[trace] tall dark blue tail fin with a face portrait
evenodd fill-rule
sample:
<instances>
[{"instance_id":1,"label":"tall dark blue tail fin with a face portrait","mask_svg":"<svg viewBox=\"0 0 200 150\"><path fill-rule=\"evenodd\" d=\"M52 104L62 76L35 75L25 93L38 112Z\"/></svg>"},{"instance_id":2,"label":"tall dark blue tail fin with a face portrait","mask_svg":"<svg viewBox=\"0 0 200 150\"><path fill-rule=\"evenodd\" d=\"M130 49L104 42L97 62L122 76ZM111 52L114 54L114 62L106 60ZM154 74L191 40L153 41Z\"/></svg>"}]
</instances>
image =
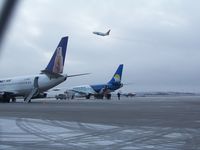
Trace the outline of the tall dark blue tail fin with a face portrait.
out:
<instances>
[{"instance_id":1,"label":"tall dark blue tail fin with a face portrait","mask_svg":"<svg viewBox=\"0 0 200 150\"><path fill-rule=\"evenodd\" d=\"M62 37L60 43L58 44L51 60L45 70L42 70L42 73L48 74L61 74L63 73L65 55L67 51L68 36Z\"/></svg>"}]
</instances>

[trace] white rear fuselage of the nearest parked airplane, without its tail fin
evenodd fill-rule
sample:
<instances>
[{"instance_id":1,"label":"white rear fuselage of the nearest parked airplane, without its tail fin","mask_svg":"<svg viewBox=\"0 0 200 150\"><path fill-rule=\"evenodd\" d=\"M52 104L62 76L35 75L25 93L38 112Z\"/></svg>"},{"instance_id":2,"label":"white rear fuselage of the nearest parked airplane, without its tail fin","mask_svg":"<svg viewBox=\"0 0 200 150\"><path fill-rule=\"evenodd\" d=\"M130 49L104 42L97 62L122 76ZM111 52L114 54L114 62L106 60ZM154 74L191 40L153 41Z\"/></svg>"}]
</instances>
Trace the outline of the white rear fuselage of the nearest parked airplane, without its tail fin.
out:
<instances>
[{"instance_id":1,"label":"white rear fuselage of the nearest parked airplane, without its tail fin","mask_svg":"<svg viewBox=\"0 0 200 150\"><path fill-rule=\"evenodd\" d=\"M50 78L46 74L0 79L0 91L10 92L16 96L27 96L33 90L37 77L39 92L47 91L67 79L67 75Z\"/></svg>"}]
</instances>

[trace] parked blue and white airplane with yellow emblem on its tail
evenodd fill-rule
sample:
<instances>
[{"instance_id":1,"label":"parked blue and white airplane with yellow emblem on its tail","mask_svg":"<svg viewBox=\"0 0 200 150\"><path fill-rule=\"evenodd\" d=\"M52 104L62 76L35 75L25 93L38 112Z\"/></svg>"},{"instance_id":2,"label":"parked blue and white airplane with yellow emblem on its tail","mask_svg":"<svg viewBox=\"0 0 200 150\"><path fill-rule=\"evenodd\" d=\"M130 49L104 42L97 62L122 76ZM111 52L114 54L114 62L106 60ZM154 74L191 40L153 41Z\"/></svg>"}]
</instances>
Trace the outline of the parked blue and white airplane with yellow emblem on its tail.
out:
<instances>
[{"instance_id":1,"label":"parked blue and white airplane with yellow emblem on its tail","mask_svg":"<svg viewBox=\"0 0 200 150\"><path fill-rule=\"evenodd\" d=\"M121 83L122 71L123 71L123 64L120 64L115 74L108 83L75 86L72 89L66 91L66 93L67 92L69 93L74 92L74 94L78 93L79 96L83 96L86 99L90 99L91 96L94 96L95 98L98 99L103 99L103 97L105 96L107 99L110 99L111 92L114 92L115 90L123 87L123 84Z\"/></svg>"}]
</instances>

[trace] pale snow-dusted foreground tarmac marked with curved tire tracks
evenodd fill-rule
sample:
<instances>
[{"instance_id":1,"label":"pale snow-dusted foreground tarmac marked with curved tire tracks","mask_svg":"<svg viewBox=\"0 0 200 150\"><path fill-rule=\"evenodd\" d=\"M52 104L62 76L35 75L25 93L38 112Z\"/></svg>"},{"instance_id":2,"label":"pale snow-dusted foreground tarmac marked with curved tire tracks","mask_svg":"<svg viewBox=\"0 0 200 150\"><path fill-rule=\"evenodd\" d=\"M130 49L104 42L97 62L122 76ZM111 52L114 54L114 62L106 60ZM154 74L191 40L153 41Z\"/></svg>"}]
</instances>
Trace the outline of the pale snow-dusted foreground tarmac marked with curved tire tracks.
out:
<instances>
[{"instance_id":1,"label":"pale snow-dusted foreground tarmac marked with curved tire tracks","mask_svg":"<svg viewBox=\"0 0 200 150\"><path fill-rule=\"evenodd\" d=\"M200 131L120 127L28 118L0 119L0 149L199 149L186 142ZM191 141L193 142L193 141ZM192 144L192 143L191 143ZM192 145L190 145L192 146Z\"/></svg>"}]
</instances>

